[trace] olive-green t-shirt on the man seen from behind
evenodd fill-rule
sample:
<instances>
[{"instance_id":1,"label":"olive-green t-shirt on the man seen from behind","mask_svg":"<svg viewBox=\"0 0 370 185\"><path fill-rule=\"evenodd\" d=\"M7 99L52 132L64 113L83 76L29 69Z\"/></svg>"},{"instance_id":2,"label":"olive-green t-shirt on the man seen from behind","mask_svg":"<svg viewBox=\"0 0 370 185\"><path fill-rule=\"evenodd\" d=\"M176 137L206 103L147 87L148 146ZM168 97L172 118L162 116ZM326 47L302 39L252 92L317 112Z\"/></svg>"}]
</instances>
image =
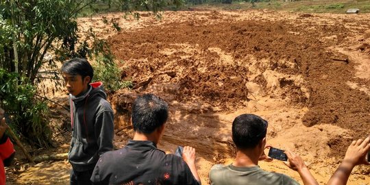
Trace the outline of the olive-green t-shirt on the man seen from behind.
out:
<instances>
[{"instance_id":1,"label":"olive-green t-shirt on the man seen from behind","mask_svg":"<svg viewBox=\"0 0 370 185\"><path fill-rule=\"evenodd\" d=\"M260 167L234 167L232 164L224 166L216 164L210 169L210 181L213 185L225 184L263 184L289 185L299 184L284 174L263 171Z\"/></svg>"}]
</instances>

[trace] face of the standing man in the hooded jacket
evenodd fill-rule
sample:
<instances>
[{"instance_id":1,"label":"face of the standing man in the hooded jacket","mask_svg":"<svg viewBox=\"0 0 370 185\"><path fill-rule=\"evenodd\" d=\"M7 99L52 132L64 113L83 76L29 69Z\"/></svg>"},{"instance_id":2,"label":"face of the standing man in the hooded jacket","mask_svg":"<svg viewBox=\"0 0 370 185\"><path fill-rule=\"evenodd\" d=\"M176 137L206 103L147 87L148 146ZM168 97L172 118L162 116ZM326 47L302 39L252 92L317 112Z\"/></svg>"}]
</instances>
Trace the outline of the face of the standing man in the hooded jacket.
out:
<instances>
[{"instance_id":1,"label":"face of the standing man in the hooded jacket","mask_svg":"<svg viewBox=\"0 0 370 185\"><path fill-rule=\"evenodd\" d=\"M88 76L86 76L85 79L82 79L81 75L70 75L69 73L64 72L62 76L66 89L73 96L83 93L88 88L88 82L90 81L90 77Z\"/></svg>"}]
</instances>

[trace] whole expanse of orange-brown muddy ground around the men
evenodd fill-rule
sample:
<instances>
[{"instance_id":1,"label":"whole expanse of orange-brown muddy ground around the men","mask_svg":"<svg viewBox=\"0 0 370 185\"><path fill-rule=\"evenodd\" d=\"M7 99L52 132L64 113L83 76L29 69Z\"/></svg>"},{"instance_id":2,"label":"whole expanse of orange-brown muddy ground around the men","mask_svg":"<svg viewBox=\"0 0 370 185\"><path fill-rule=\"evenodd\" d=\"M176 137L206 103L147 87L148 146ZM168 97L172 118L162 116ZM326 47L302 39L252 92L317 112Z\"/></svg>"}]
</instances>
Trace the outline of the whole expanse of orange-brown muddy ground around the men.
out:
<instances>
[{"instance_id":1,"label":"whole expanse of orange-brown muddy ground around the men","mask_svg":"<svg viewBox=\"0 0 370 185\"><path fill-rule=\"evenodd\" d=\"M197 151L203 184L213 164L232 162L231 125L243 113L269 121L267 144L298 153L320 184L341 162L347 145L370 129L370 15L303 14L269 10L191 10L80 18L108 38L133 90L109 95L116 110L114 145L133 136L130 105L143 93L169 103L167 130L159 148ZM116 33L102 17L115 18ZM66 96L57 99L66 103ZM54 107L56 108L56 107ZM57 109L57 108L56 108ZM55 114L69 113L56 110ZM68 124L68 123L67 123ZM61 131L64 133L65 131ZM58 152L68 151L68 134ZM63 144L63 145L62 145ZM260 162L268 171L301 182L282 162ZM42 162L10 171L9 184L68 184L68 162ZM356 167L348 184L370 184L370 167Z\"/></svg>"}]
</instances>

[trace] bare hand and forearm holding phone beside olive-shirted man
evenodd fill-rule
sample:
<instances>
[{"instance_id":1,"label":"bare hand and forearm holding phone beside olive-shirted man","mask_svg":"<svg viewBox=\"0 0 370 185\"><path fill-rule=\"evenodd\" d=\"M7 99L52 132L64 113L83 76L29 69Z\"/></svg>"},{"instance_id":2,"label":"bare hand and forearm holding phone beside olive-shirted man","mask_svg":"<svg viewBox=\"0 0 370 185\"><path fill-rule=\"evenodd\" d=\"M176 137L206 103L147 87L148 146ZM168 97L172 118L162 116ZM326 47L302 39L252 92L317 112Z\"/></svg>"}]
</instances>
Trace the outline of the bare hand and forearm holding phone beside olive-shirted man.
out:
<instances>
[{"instance_id":1,"label":"bare hand and forearm holding phone beside olive-shirted man","mask_svg":"<svg viewBox=\"0 0 370 185\"><path fill-rule=\"evenodd\" d=\"M317 181L314 179L306 164L304 164L304 160L298 156L297 154L293 153L292 151L285 151L286 156L288 156L288 162L286 162L286 166L289 168L297 171L301 176L302 181L305 185L318 185Z\"/></svg>"}]
</instances>

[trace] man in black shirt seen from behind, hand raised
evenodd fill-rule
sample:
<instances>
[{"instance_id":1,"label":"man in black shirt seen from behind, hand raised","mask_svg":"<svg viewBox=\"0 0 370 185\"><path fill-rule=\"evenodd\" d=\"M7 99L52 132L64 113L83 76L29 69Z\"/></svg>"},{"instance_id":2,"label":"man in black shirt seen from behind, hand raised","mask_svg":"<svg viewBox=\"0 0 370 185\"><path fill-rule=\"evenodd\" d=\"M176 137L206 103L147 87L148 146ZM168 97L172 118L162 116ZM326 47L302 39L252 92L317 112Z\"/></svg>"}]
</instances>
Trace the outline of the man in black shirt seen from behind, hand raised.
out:
<instances>
[{"instance_id":1,"label":"man in black shirt seen from behind, hand raised","mask_svg":"<svg viewBox=\"0 0 370 185\"><path fill-rule=\"evenodd\" d=\"M200 184L195 149L184 147L182 158L164 153L157 144L164 133L168 106L147 94L132 105L134 139L123 149L104 153L93 171L94 184Z\"/></svg>"}]
</instances>

